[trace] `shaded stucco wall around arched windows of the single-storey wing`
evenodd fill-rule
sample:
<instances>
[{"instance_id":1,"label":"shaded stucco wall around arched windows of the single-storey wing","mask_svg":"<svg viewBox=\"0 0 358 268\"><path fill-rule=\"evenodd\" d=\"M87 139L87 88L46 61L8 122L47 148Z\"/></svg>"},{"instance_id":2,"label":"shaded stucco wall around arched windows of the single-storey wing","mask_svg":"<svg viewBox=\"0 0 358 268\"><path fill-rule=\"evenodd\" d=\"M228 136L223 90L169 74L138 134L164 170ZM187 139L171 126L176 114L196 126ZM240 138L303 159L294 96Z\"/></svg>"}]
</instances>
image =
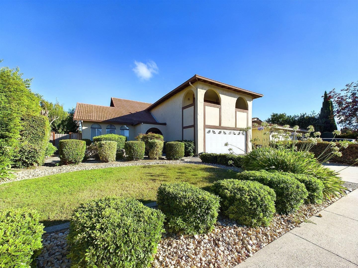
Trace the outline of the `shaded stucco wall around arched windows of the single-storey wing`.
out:
<instances>
[{"instance_id":1,"label":"shaded stucco wall around arched windows of the single-storey wing","mask_svg":"<svg viewBox=\"0 0 358 268\"><path fill-rule=\"evenodd\" d=\"M106 128L108 123L103 122L92 122L92 121L83 121L82 122L82 139L91 139L91 125L99 124L102 127L102 135L106 134ZM110 123L116 127L116 134L120 134L120 128L123 124ZM140 133L146 133L150 128L158 128L161 133L165 136L165 125L154 125L154 124L137 124L137 125L126 125L129 128L129 140L135 140L135 137ZM181 135L181 133L180 133Z\"/></svg>"}]
</instances>

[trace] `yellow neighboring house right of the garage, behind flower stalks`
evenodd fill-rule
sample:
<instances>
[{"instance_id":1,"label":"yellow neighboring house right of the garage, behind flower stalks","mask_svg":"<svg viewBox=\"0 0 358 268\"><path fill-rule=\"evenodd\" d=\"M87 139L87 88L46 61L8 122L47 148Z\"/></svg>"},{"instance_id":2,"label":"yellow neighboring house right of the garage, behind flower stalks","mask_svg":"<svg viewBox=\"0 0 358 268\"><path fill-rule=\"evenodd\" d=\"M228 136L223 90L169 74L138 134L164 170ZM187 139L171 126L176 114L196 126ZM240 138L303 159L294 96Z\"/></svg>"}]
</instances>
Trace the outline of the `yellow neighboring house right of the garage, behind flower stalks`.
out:
<instances>
[{"instance_id":1,"label":"yellow neighboring house right of the garage, behind flower stalks","mask_svg":"<svg viewBox=\"0 0 358 268\"><path fill-rule=\"evenodd\" d=\"M287 132L287 131L289 131L289 132L294 132L294 130L293 130L293 128L284 128L284 126L283 125L278 125L278 127L277 128L275 128L275 132L274 132L274 130L273 129L268 129L268 128L264 128L264 129L262 129L262 127L261 127L261 124L262 124L262 122L263 121L261 121L260 119L258 119L257 117L254 117L254 118L252 118L252 124L258 124L259 126L257 127L257 128L252 128L252 139L255 139L255 138L258 138L258 139L260 139L260 140L258 140L258 141L255 141L254 142L254 145L263 145L263 133L265 132L265 131L270 131L270 135L269 135L269 141L270 140L273 140L273 138L272 138L272 134L277 134L277 131L278 130L283 130L285 133ZM273 124L271 124L271 123L268 123L270 126L272 126ZM305 134L306 133L308 133L308 129L305 129L305 128L299 128L297 131L296 131L297 133L302 133L302 138L304 138L305 137ZM290 135L290 139L291 140L293 140L294 139L294 135ZM295 139L297 139L297 137L295 137ZM265 140L267 140L267 138L265 138ZM277 139L276 139L277 140ZM266 145L266 144L265 144Z\"/></svg>"}]
</instances>

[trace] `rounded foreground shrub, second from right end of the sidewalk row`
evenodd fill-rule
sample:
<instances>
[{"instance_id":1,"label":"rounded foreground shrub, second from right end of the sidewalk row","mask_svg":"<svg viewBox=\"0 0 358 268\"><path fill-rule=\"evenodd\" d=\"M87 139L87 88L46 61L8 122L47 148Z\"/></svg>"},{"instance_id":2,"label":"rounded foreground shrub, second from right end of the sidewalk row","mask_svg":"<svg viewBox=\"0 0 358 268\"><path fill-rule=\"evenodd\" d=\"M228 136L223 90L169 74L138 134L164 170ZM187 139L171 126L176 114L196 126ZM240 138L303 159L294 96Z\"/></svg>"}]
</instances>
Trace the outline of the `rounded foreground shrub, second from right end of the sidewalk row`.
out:
<instances>
[{"instance_id":1,"label":"rounded foreground shrub, second from right end of the sidewalk row","mask_svg":"<svg viewBox=\"0 0 358 268\"><path fill-rule=\"evenodd\" d=\"M240 180L255 180L273 189L276 193L276 211L279 213L295 212L308 196L303 183L280 172L271 173L266 170L244 171L238 173L237 178Z\"/></svg>"}]
</instances>

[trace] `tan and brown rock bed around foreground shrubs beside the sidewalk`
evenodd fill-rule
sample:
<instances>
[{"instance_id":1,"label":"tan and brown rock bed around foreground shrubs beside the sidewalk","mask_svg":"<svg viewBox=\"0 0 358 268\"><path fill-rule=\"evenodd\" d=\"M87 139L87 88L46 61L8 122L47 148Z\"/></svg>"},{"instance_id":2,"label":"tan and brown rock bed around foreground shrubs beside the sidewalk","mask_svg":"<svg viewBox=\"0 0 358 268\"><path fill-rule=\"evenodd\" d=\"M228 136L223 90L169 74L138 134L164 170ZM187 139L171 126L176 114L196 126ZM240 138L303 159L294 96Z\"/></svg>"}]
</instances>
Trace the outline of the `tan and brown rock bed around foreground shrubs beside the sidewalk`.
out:
<instances>
[{"instance_id":1,"label":"tan and brown rock bed around foreground shrubs beside the sidewalk","mask_svg":"<svg viewBox=\"0 0 358 268\"><path fill-rule=\"evenodd\" d=\"M321 205L303 205L295 214L276 214L269 227L249 228L219 218L214 230L208 234L188 236L166 232L152 267L234 267L338 199L326 200ZM39 268L70 267L70 260L66 258L67 234L68 230L62 230L43 235L44 249L38 257Z\"/></svg>"}]
</instances>

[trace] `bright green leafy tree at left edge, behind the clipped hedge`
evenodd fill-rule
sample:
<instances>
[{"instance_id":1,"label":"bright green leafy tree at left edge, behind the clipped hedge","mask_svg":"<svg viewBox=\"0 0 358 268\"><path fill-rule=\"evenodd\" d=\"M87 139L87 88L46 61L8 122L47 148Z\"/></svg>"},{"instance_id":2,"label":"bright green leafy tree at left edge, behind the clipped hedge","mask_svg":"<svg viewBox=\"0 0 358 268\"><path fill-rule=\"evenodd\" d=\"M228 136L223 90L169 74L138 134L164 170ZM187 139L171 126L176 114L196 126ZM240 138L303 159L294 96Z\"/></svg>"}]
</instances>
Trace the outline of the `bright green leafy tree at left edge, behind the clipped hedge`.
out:
<instances>
[{"instance_id":1,"label":"bright green leafy tree at left edge, behind the clipped hedge","mask_svg":"<svg viewBox=\"0 0 358 268\"><path fill-rule=\"evenodd\" d=\"M16 144L21 118L40 114L40 100L30 89L32 79L23 79L22 75L18 67L0 68L0 143L3 145Z\"/></svg>"}]
</instances>

